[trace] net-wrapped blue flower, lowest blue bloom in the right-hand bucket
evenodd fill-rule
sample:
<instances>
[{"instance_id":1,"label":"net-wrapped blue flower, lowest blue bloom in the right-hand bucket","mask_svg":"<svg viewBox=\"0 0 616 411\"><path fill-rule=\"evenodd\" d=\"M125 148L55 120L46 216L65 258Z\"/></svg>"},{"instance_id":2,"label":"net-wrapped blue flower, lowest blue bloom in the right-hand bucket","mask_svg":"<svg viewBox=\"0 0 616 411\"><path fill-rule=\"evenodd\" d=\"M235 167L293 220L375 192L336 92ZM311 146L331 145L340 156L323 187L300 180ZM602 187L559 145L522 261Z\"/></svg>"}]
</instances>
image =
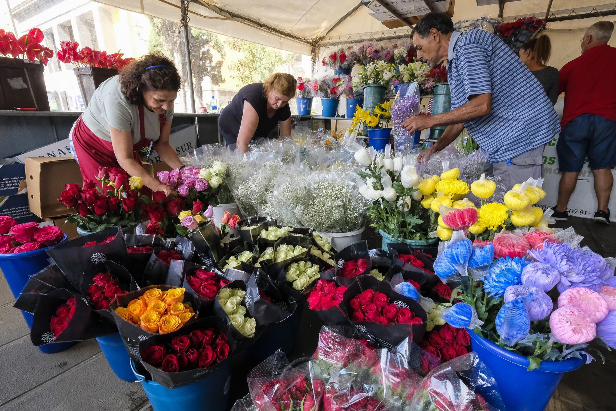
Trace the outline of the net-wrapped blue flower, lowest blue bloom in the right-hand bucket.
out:
<instances>
[{"instance_id":1,"label":"net-wrapped blue flower, lowest blue bloom in the right-hand bucket","mask_svg":"<svg viewBox=\"0 0 616 411\"><path fill-rule=\"evenodd\" d=\"M524 340L530 332L530 317L528 303L533 295L516 298L503 304L496 314L496 332L500 335L500 341L508 346L513 346L517 341Z\"/></svg>"}]
</instances>

